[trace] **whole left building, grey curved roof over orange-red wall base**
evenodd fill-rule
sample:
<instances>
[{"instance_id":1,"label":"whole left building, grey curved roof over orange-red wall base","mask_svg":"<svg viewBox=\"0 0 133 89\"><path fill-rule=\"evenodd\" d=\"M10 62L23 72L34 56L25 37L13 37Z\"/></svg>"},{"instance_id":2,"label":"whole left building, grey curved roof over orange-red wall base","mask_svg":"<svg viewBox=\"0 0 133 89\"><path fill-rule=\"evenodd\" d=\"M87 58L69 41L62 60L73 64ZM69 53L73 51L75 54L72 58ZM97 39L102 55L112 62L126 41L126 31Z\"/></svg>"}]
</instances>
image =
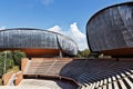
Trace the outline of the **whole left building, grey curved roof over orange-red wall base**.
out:
<instances>
[{"instance_id":1,"label":"whole left building, grey curved roof over orange-red wall base","mask_svg":"<svg viewBox=\"0 0 133 89\"><path fill-rule=\"evenodd\" d=\"M78 44L66 36L31 28L0 30L0 51L21 50L28 57L73 57Z\"/></svg>"}]
</instances>

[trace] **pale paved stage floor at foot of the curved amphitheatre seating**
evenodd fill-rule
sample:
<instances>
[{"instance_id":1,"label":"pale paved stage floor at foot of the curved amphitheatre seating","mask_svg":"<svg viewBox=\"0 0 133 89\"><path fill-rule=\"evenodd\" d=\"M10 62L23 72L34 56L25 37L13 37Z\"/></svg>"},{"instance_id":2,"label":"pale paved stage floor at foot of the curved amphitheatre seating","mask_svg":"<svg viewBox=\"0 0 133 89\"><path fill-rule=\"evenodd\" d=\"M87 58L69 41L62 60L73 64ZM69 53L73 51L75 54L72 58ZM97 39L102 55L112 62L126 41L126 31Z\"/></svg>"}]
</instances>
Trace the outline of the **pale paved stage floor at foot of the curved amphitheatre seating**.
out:
<instances>
[{"instance_id":1,"label":"pale paved stage floor at foot of the curved amphitheatre seating","mask_svg":"<svg viewBox=\"0 0 133 89\"><path fill-rule=\"evenodd\" d=\"M19 86L1 86L0 89L76 89L78 87L60 80L23 79Z\"/></svg>"}]
</instances>

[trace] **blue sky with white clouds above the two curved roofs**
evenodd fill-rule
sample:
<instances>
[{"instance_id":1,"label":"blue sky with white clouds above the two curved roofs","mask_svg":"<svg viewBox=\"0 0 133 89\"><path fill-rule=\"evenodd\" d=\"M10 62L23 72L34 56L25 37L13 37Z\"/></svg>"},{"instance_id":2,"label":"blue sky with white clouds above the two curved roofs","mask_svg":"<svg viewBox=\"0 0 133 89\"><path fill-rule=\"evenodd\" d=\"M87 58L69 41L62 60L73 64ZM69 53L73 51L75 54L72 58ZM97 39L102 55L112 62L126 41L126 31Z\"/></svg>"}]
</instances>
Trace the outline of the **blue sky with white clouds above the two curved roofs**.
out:
<instances>
[{"instance_id":1,"label":"blue sky with white clouds above the two curved roofs","mask_svg":"<svg viewBox=\"0 0 133 89\"><path fill-rule=\"evenodd\" d=\"M38 28L69 36L88 48L85 26L99 10L129 0L0 0L0 29Z\"/></svg>"}]
</instances>

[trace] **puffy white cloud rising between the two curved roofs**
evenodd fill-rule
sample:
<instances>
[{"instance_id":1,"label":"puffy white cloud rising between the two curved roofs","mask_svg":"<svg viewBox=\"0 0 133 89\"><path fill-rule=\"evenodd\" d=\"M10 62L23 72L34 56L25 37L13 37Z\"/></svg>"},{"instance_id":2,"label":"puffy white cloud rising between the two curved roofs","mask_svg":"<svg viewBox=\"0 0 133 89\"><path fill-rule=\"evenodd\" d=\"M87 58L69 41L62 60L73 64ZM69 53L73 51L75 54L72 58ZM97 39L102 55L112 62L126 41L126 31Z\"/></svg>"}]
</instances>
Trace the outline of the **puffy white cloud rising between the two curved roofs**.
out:
<instances>
[{"instance_id":1,"label":"puffy white cloud rising between the two curved roofs","mask_svg":"<svg viewBox=\"0 0 133 89\"><path fill-rule=\"evenodd\" d=\"M66 31L63 31L59 26L54 26L48 30L69 36L78 43L80 50L88 48L86 37L79 30L76 22L70 24L70 29Z\"/></svg>"}]
</instances>

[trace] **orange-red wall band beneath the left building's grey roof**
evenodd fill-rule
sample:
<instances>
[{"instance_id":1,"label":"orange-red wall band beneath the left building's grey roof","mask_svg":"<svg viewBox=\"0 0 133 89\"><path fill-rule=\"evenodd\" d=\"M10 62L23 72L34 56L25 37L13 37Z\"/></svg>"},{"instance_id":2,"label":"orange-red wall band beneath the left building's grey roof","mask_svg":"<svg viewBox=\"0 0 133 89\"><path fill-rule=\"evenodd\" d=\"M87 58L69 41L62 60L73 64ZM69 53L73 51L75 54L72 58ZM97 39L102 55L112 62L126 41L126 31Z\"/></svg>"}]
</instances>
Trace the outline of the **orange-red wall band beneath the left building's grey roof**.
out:
<instances>
[{"instance_id":1,"label":"orange-red wall band beneath the left building's grey roof","mask_svg":"<svg viewBox=\"0 0 133 89\"><path fill-rule=\"evenodd\" d=\"M0 49L0 51L4 50L20 50L25 52L28 57L47 57L47 56L59 56L59 49Z\"/></svg>"}]
</instances>

